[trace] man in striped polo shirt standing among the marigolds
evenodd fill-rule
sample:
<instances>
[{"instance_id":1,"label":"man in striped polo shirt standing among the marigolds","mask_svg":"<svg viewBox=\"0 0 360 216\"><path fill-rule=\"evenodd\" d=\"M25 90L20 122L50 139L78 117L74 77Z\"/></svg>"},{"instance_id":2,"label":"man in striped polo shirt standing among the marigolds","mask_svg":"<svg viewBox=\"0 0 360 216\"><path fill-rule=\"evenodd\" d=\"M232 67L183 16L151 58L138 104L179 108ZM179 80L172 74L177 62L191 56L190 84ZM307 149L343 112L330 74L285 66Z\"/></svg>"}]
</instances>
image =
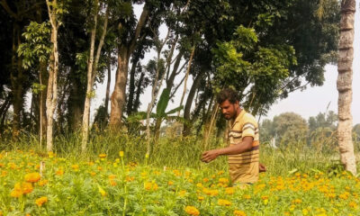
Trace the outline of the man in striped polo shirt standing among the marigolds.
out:
<instances>
[{"instance_id":1,"label":"man in striped polo shirt standing among the marigolds","mask_svg":"<svg viewBox=\"0 0 360 216\"><path fill-rule=\"evenodd\" d=\"M221 155L228 156L229 175L232 184L254 184L260 171L259 134L257 121L253 115L241 109L238 94L230 89L223 89L217 96L221 112L229 121L229 147L213 149L202 153L202 162L209 163Z\"/></svg>"}]
</instances>

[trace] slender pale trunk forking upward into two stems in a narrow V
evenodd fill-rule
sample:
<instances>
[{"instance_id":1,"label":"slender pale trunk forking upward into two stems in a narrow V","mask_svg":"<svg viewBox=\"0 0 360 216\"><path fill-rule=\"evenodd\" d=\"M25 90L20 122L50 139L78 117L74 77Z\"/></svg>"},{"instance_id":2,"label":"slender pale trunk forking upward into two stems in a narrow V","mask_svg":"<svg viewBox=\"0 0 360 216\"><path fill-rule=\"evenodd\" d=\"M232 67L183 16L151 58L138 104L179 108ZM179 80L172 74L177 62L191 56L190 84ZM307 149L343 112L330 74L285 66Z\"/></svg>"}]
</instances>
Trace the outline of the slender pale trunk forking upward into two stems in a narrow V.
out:
<instances>
[{"instance_id":1,"label":"slender pale trunk forking upward into two stems in a narrow V","mask_svg":"<svg viewBox=\"0 0 360 216\"><path fill-rule=\"evenodd\" d=\"M83 115L83 127L82 127L82 140L81 140L81 150L85 152L87 139L89 136L89 119L90 119L90 103L93 93L93 85L94 85L94 77L97 71L97 64L99 62L101 49L103 48L103 40L106 35L107 31L107 19L108 19L108 10L106 10L105 15L105 22L103 24L103 34L99 41L96 56L94 59L94 43L95 43L95 36L96 36L96 26L97 26L97 13L98 13L98 1L95 1L95 14L94 14L94 29L91 31L91 44L90 44L90 58L87 64L87 86L86 86L86 98L85 98L85 105L84 105L84 115Z\"/></svg>"}]
</instances>

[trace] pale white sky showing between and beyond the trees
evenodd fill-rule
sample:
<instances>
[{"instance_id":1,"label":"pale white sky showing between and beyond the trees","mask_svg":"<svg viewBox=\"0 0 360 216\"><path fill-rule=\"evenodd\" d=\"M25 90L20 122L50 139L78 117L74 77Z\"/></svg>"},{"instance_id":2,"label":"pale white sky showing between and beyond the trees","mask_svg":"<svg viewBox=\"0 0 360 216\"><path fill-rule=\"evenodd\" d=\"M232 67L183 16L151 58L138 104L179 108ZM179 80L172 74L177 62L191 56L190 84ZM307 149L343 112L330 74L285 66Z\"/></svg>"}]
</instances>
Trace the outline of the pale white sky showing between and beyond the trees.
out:
<instances>
[{"instance_id":1,"label":"pale white sky showing between and beyond the trees","mask_svg":"<svg viewBox=\"0 0 360 216\"><path fill-rule=\"evenodd\" d=\"M360 8L358 7L360 0L356 0L356 21L355 21L355 41L354 41L354 65L353 65L353 103L352 103L352 113L353 113L353 122L354 124L360 123ZM141 6L135 8L135 14L139 17L141 13ZM161 35L166 34L166 27L163 26L161 30ZM146 58L142 61L143 64L146 64L148 59L153 58L155 51L148 53ZM111 93L113 90L114 83L114 73L115 67L112 68L112 85ZM325 112L329 104L329 110L338 112L338 90L337 90L337 78L338 78L338 68L336 66L328 65L325 67L325 82L322 86L311 87L308 86L304 91L296 91L289 94L289 96L281 101L275 103L269 110L267 116L261 117L262 120L268 118L272 119L275 115L279 115L282 112L296 112L302 115L303 118L308 119L310 116L315 116L319 112ZM105 80L107 78L105 77ZM181 77L177 77L175 80L179 82ZM190 89L192 85L193 77L189 77L187 84L187 90ZM106 82L103 85L98 85L96 91L96 97L92 102L92 117L94 118L94 109L96 109L101 103L105 96ZM164 85L163 85L164 86ZM176 93L175 103L169 103L168 109L175 108L180 103L180 97L183 92L184 85L180 86L178 92ZM142 105L140 106L140 111L146 111L148 102L151 100L151 86L148 87L145 94L140 96L140 101ZM186 100L187 95L185 95L184 101Z\"/></svg>"}]
</instances>

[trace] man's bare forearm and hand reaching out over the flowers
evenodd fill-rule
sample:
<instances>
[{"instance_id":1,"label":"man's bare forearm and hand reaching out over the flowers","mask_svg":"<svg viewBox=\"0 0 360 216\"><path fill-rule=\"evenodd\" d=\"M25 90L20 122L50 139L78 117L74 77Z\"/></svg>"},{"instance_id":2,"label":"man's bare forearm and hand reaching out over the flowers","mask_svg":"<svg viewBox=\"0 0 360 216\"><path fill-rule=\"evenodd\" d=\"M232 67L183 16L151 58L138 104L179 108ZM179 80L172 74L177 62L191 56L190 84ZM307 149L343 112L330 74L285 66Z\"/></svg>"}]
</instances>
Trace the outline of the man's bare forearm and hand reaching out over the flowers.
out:
<instances>
[{"instance_id":1,"label":"man's bare forearm and hand reaching out over the flowers","mask_svg":"<svg viewBox=\"0 0 360 216\"><path fill-rule=\"evenodd\" d=\"M238 145L213 149L202 153L202 162L209 163L220 155L237 155L252 148L253 137L244 137Z\"/></svg>"}]
</instances>

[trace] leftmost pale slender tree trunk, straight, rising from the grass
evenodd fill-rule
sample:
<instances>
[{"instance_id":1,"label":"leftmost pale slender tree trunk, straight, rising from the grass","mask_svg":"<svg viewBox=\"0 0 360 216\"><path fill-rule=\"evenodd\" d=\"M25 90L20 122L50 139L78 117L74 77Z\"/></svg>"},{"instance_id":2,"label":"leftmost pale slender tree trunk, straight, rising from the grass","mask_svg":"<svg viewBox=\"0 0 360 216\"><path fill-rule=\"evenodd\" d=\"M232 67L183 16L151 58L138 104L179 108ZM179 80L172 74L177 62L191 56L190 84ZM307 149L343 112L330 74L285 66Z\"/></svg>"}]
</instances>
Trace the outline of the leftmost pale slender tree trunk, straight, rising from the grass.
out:
<instances>
[{"instance_id":1,"label":"leftmost pale slender tree trunk, straight, rising from the grass","mask_svg":"<svg viewBox=\"0 0 360 216\"><path fill-rule=\"evenodd\" d=\"M49 21L51 23L51 42L52 42L52 53L50 56L49 63L49 81L48 81L48 92L46 96L46 108L47 108L47 130L46 130L46 148L48 151L52 151L53 140L52 140L52 128L53 128L53 117L58 100L58 18L55 12L57 6L57 0L49 3L46 0L49 12Z\"/></svg>"}]
</instances>

